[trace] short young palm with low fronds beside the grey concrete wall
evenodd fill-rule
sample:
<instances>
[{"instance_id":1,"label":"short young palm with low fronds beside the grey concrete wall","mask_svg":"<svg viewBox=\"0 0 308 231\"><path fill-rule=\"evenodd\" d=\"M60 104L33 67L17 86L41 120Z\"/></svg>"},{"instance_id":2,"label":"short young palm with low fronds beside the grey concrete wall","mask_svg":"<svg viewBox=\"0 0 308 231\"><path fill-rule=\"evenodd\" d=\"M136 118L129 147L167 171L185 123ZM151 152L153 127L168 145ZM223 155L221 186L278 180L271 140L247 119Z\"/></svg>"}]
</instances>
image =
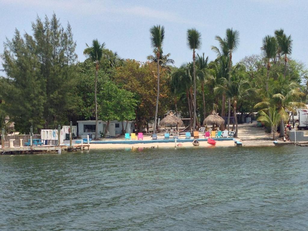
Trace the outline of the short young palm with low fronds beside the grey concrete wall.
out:
<instances>
[{"instance_id":1,"label":"short young palm with low fronds beside the grey concrete wall","mask_svg":"<svg viewBox=\"0 0 308 231\"><path fill-rule=\"evenodd\" d=\"M266 114L265 111L267 111L268 114ZM261 123L264 123L265 126L271 128L271 130L273 131L273 140L275 140L277 126L278 126L280 118L281 118L281 115L276 110L276 107L270 107L270 108L261 110L260 116L257 118L257 120L260 121Z\"/></svg>"}]
</instances>

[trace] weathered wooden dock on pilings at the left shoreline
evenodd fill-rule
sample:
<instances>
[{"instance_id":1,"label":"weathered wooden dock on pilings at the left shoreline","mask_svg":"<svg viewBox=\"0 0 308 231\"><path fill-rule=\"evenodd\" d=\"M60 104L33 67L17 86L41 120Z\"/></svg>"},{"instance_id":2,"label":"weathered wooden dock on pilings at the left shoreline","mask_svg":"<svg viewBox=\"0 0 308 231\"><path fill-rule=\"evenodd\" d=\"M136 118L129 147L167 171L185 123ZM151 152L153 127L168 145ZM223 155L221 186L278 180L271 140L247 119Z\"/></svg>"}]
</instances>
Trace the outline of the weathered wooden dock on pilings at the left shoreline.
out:
<instances>
[{"instance_id":1,"label":"weathered wooden dock on pilings at the left shoreline","mask_svg":"<svg viewBox=\"0 0 308 231\"><path fill-rule=\"evenodd\" d=\"M60 145L60 146L53 146L53 145L42 145L42 146L24 146L24 147L14 147L14 148L0 148L0 154L1 155L14 155L14 154L35 154L35 153L59 153L61 154L61 151L77 151L77 150L83 150L87 148L89 150L90 145L89 144L79 144L79 145L73 145L73 146L67 146L67 145Z\"/></svg>"}]
</instances>

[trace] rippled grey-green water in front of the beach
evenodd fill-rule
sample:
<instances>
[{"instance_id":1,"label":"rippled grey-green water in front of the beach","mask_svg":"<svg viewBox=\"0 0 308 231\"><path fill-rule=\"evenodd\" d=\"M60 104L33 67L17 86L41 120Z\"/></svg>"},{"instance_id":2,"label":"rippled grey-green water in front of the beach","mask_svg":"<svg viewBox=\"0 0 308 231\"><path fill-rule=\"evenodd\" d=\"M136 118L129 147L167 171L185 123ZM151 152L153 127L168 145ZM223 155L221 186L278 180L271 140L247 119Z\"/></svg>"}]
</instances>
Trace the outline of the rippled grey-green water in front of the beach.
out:
<instances>
[{"instance_id":1,"label":"rippled grey-green water in front of the beach","mask_svg":"<svg viewBox=\"0 0 308 231\"><path fill-rule=\"evenodd\" d=\"M308 149L0 156L0 230L308 230Z\"/></svg>"}]
</instances>

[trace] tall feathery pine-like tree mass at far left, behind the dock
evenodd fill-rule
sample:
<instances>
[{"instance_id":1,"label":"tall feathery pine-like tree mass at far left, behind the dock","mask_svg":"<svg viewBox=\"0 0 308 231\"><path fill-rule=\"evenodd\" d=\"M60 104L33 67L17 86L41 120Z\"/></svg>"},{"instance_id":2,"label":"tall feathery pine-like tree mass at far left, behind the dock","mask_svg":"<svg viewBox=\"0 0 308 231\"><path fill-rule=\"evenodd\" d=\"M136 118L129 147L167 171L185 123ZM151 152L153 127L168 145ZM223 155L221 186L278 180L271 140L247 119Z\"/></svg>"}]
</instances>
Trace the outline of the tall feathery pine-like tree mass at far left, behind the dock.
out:
<instances>
[{"instance_id":1,"label":"tall feathery pine-like tree mass at far left, behind the dock","mask_svg":"<svg viewBox=\"0 0 308 231\"><path fill-rule=\"evenodd\" d=\"M68 122L67 111L75 107L76 43L70 24L64 29L53 14L32 23L33 36L15 30L1 55L4 81L3 110L19 132L55 128Z\"/></svg>"}]
</instances>

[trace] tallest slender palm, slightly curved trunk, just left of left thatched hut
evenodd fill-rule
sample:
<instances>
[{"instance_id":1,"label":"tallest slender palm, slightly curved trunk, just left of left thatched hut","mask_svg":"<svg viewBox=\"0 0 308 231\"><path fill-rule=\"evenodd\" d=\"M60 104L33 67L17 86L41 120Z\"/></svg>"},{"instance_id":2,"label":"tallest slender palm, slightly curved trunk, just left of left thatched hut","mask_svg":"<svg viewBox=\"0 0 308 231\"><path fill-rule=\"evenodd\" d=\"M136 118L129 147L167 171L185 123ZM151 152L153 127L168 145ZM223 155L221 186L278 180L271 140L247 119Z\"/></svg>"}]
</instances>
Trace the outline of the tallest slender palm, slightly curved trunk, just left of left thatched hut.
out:
<instances>
[{"instance_id":1,"label":"tallest slender palm, slightly curved trunk, just left of left thatched hut","mask_svg":"<svg viewBox=\"0 0 308 231\"><path fill-rule=\"evenodd\" d=\"M156 59L160 60L160 51L162 51L162 46L164 42L165 29L164 26L156 25L150 29L151 34L151 45L156 49ZM155 107L155 117L154 117L154 128L153 134L156 133L156 123L157 123L157 113L158 113L158 100L159 100L159 63L157 62L157 96L156 96L156 107Z\"/></svg>"}]
</instances>

